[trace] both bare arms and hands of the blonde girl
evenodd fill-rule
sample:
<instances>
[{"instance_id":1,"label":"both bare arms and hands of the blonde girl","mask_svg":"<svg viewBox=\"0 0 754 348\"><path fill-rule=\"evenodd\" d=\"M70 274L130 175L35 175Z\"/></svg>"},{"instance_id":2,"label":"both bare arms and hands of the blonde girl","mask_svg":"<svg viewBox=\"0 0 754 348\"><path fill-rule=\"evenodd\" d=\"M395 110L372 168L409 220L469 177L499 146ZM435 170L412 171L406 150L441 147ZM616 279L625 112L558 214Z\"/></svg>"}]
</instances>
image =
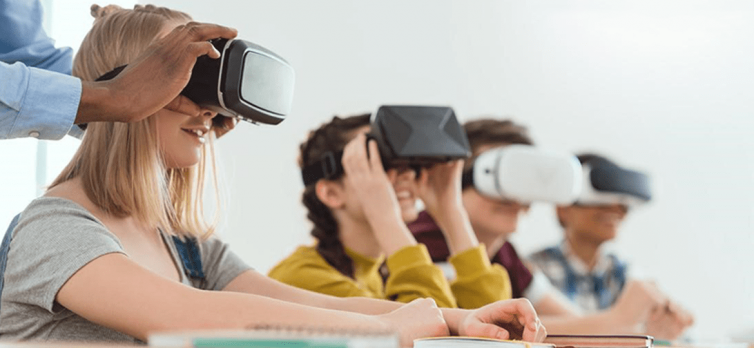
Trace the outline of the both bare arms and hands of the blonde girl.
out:
<instances>
[{"instance_id":1,"label":"both bare arms and hands of the blonde girl","mask_svg":"<svg viewBox=\"0 0 754 348\"><path fill-rule=\"evenodd\" d=\"M287 296L292 294L289 292ZM323 295L303 296L313 296L304 299L305 302L316 302ZM526 300L501 301L476 311L440 311L434 301L427 299L407 305L370 299L343 300L340 306L351 312L257 294L197 290L163 278L116 253L96 258L79 269L56 296L58 303L81 317L141 340L156 331L243 329L255 325L392 328L399 332L404 346L410 346L414 338L448 333L503 337L498 327L507 324L511 337L521 335L535 341L544 338L544 328L531 305L527 307L521 302L528 304ZM369 316L354 311L384 314Z\"/></svg>"}]
</instances>

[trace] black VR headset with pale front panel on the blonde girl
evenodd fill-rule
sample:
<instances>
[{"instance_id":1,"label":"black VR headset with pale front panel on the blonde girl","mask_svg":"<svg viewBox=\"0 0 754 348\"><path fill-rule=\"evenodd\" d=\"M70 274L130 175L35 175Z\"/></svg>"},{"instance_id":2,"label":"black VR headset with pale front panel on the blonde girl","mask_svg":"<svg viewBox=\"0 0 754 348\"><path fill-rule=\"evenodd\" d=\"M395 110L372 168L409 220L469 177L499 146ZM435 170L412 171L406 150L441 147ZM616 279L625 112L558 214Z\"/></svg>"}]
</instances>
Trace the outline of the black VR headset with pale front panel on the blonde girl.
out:
<instances>
[{"instance_id":1,"label":"black VR headset with pale front panel on the blonde girl","mask_svg":"<svg viewBox=\"0 0 754 348\"><path fill-rule=\"evenodd\" d=\"M295 74L283 58L244 40L212 40L221 57L201 56L181 92L202 107L252 123L278 124L291 111ZM115 68L97 81L117 76Z\"/></svg>"}]
</instances>

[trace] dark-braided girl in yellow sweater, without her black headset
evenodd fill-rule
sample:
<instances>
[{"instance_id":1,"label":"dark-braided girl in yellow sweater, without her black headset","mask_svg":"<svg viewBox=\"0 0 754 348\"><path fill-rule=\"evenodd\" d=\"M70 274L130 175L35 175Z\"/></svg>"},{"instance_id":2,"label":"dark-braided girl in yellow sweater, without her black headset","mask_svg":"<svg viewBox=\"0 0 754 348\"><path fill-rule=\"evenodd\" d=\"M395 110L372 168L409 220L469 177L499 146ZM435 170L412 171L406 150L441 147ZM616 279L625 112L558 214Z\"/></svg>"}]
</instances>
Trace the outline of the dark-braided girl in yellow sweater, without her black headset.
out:
<instances>
[{"instance_id":1,"label":"dark-braided girl in yellow sweater, without her black headset","mask_svg":"<svg viewBox=\"0 0 754 348\"><path fill-rule=\"evenodd\" d=\"M269 276L341 297L399 302L431 297L440 307L478 308L509 299L507 272L490 264L461 207L461 161L386 170L377 141L367 145L369 131L370 114L335 117L301 144L299 165L308 182L302 201L317 243L299 247ZM311 168L341 151L342 170L307 179ZM450 285L405 224L417 217L417 198L447 226L451 263L459 274Z\"/></svg>"}]
</instances>

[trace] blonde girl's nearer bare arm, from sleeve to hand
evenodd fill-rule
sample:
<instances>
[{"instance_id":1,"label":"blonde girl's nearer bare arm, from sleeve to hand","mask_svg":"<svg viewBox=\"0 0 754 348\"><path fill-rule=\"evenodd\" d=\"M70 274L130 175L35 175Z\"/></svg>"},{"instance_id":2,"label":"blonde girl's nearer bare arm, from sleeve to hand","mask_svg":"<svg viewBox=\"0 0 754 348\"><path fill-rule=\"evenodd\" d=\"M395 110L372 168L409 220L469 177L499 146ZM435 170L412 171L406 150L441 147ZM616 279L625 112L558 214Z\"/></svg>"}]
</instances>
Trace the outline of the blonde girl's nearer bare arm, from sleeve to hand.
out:
<instances>
[{"instance_id":1,"label":"blonde girl's nearer bare arm, from sleeve to hand","mask_svg":"<svg viewBox=\"0 0 754 348\"><path fill-rule=\"evenodd\" d=\"M116 253L96 258L79 269L60 289L56 301L91 322L141 340L156 331L243 329L255 325L395 328L404 343L447 334L441 313L428 300L369 316L255 294L197 290L161 277Z\"/></svg>"}]
</instances>

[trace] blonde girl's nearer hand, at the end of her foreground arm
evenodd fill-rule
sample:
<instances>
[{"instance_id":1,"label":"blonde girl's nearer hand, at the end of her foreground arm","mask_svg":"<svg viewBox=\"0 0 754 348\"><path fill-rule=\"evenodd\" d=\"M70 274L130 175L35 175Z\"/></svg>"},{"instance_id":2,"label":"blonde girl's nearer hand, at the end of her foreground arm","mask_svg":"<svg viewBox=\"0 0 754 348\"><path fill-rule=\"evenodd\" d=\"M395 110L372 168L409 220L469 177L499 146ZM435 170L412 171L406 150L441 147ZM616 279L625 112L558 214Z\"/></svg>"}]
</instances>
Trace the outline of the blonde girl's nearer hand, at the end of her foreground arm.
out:
<instances>
[{"instance_id":1,"label":"blonde girl's nearer hand, at the end of her foreground arm","mask_svg":"<svg viewBox=\"0 0 754 348\"><path fill-rule=\"evenodd\" d=\"M379 319L398 331L401 347L413 347L417 338L448 336L448 325L431 298L411 301Z\"/></svg>"}]
</instances>

